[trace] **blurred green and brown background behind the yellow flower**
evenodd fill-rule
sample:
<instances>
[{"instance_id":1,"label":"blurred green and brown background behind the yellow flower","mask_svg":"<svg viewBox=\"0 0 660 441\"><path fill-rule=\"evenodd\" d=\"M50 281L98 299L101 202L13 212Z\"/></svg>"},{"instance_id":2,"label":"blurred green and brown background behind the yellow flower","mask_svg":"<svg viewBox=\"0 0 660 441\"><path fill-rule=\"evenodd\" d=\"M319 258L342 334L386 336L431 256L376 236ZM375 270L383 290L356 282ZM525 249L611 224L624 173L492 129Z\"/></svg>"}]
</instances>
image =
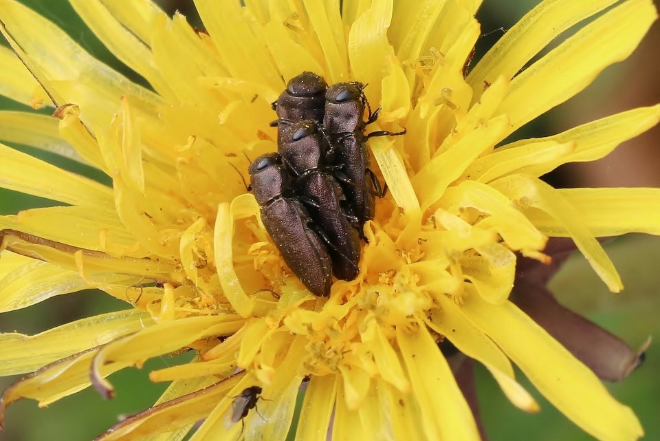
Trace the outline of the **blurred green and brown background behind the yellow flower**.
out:
<instances>
[{"instance_id":1,"label":"blurred green and brown background behind the yellow flower","mask_svg":"<svg viewBox=\"0 0 660 441\"><path fill-rule=\"evenodd\" d=\"M85 28L67 1L21 2L57 23L97 58L144 84L141 78L122 65L94 34ZM199 25L191 1L161 0L157 3L168 12L181 10L192 23ZM483 36L478 42L474 61L502 36L503 30L510 28L536 3L537 0L485 0L479 14ZM569 103L560 105L538 118L514 136L544 136L616 111L658 103L659 45L660 30L656 25L628 61L606 69L593 85ZM32 111L1 97L0 109ZM43 111L45 114L50 112L47 109ZM595 164L564 166L547 179L555 186L660 186L659 146L660 133L656 127L636 140L627 142L625 147L620 147L611 158ZM56 155L43 152L37 154L36 151L18 145L12 147L39 155L76 173L109 182L94 170ZM53 202L0 189L0 214L49 205L53 205ZM611 242L606 249L621 272L626 286L622 294L610 294L580 256L573 256L569 260L553 280L551 287L562 303L606 327L633 347L638 347L648 336L657 335L660 331L660 277L657 272L660 239L628 235ZM100 292L68 294L32 306L28 310L2 314L0 332L34 334L85 316L124 308L125 303ZM186 358L186 355L180 357ZM92 440L122 416L150 406L164 391L166 385L154 384L148 380L150 370L182 361L179 357L161 357L149 361L142 369L124 369L114 374L110 380L117 389L117 396L109 401L103 400L92 389L65 398L45 409L39 409L34 401L20 400L8 409L7 427L0 433L0 441ZM521 374L519 376L522 378ZM534 392L542 407L538 414L522 413L511 406L484 369L477 370L477 377L481 413L492 441L592 439L536 394L525 380L523 384ZM16 379L0 378L0 390ZM660 345L652 344L647 352L646 363L623 383L608 385L608 388L615 397L630 405L637 413L647 433L644 439L660 440ZM579 393L576 391L576 394Z\"/></svg>"}]
</instances>

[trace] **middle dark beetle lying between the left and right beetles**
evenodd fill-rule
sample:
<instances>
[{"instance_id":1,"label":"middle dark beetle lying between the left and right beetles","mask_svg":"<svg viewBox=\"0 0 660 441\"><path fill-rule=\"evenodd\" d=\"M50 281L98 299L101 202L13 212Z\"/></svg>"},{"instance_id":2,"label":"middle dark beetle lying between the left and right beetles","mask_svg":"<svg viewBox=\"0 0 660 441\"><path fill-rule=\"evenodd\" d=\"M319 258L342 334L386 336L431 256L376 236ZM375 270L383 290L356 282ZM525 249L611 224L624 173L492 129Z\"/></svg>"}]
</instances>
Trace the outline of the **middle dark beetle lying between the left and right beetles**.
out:
<instances>
[{"instance_id":1,"label":"middle dark beetle lying between the left and right beetles","mask_svg":"<svg viewBox=\"0 0 660 441\"><path fill-rule=\"evenodd\" d=\"M360 235L341 186L324 169L322 133L308 120L286 125L280 131L278 151L287 171L296 177L296 194L322 232L327 234L333 272L338 279L358 275Z\"/></svg>"}]
</instances>

